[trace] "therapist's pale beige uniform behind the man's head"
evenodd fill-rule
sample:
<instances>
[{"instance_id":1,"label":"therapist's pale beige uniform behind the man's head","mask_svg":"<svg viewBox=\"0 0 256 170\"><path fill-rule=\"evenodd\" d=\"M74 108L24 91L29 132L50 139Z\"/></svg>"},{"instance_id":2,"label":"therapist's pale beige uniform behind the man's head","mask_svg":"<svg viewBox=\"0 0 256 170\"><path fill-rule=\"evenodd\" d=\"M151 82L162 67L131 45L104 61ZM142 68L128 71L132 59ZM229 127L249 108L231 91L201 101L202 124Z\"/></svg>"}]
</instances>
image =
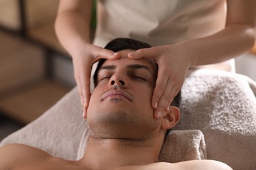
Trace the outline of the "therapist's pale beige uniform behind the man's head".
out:
<instances>
[{"instance_id":1,"label":"therapist's pale beige uniform behind the man's head","mask_svg":"<svg viewBox=\"0 0 256 170\"><path fill-rule=\"evenodd\" d=\"M93 44L104 47L117 37L174 44L217 33L225 22L225 0L98 0ZM234 71L234 59L224 70Z\"/></svg>"}]
</instances>

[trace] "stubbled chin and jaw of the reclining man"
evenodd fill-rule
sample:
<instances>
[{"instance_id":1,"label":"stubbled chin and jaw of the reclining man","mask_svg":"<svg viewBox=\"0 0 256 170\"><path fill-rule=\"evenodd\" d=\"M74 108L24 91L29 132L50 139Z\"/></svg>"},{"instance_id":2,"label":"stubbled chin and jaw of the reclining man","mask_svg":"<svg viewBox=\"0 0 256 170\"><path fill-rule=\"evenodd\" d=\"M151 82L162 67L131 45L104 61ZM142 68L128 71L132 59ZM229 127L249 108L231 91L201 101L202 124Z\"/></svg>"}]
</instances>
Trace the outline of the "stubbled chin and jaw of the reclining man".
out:
<instances>
[{"instance_id":1,"label":"stubbled chin and jaw of the reclining man","mask_svg":"<svg viewBox=\"0 0 256 170\"><path fill-rule=\"evenodd\" d=\"M94 112L88 112L87 116L90 133L93 137L144 139L144 137L152 135L158 127L155 120L146 121L147 118L145 120L145 117L135 109L95 108L97 109L94 109Z\"/></svg>"}]
</instances>

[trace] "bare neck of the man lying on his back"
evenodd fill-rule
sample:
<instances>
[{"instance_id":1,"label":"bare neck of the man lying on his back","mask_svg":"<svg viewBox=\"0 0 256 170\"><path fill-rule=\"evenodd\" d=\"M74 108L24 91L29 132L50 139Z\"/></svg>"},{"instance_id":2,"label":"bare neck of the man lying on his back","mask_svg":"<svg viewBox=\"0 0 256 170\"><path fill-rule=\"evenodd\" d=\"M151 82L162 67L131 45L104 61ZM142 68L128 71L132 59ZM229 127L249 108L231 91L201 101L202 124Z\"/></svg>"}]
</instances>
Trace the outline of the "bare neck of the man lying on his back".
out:
<instances>
[{"instance_id":1,"label":"bare neck of the man lying on his back","mask_svg":"<svg viewBox=\"0 0 256 170\"><path fill-rule=\"evenodd\" d=\"M154 140L154 139L152 139ZM158 161L158 144L150 140L96 139L90 137L80 161L91 169L114 169Z\"/></svg>"}]
</instances>

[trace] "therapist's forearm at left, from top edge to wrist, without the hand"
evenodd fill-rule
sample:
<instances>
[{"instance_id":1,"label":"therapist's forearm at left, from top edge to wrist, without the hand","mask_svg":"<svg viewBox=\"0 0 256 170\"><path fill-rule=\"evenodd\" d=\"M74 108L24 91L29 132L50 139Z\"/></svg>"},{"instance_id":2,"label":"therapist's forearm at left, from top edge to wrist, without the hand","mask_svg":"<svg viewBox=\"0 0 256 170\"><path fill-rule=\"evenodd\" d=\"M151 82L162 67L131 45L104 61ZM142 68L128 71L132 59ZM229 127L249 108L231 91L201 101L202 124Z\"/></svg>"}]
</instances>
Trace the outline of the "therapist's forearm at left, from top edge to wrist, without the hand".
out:
<instances>
[{"instance_id":1,"label":"therapist's forearm at left, from top edge to wrist, without the hand","mask_svg":"<svg viewBox=\"0 0 256 170\"><path fill-rule=\"evenodd\" d=\"M73 54L77 44L90 42L91 0L60 0L55 31L62 46Z\"/></svg>"}]
</instances>

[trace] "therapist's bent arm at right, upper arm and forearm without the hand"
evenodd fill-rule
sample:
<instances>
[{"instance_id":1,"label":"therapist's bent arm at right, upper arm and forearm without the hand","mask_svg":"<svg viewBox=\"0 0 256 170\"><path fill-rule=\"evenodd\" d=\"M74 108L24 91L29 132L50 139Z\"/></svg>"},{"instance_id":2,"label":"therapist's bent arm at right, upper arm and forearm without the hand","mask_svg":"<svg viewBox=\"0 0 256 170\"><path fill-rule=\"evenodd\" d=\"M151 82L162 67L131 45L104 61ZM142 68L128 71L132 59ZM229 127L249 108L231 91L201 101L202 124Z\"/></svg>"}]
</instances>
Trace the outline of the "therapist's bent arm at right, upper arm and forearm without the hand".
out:
<instances>
[{"instance_id":1,"label":"therapist's bent arm at right, upper arm and forearm without the hand","mask_svg":"<svg viewBox=\"0 0 256 170\"><path fill-rule=\"evenodd\" d=\"M182 44L191 54L191 65L219 63L251 50L255 43L255 9L255 0L228 0L222 31Z\"/></svg>"}]
</instances>

